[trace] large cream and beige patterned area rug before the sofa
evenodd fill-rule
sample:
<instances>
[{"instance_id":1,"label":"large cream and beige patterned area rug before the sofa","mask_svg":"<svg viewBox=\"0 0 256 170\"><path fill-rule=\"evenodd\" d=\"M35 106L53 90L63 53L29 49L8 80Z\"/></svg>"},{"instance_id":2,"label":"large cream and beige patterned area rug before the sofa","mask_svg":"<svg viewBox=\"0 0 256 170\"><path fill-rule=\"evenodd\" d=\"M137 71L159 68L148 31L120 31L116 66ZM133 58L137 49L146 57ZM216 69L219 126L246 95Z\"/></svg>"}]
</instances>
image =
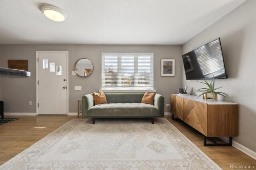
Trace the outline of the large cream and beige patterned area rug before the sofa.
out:
<instances>
[{"instance_id":1,"label":"large cream and beige patterned area rug before the sofa","mask_svg":"<svg viewBox=\"0 0 256 170\"><path fill-rule=\"evenodd\" d=\"M0 169L220 169L164 118L72 119Z\"/></svg>"}]
</instances>

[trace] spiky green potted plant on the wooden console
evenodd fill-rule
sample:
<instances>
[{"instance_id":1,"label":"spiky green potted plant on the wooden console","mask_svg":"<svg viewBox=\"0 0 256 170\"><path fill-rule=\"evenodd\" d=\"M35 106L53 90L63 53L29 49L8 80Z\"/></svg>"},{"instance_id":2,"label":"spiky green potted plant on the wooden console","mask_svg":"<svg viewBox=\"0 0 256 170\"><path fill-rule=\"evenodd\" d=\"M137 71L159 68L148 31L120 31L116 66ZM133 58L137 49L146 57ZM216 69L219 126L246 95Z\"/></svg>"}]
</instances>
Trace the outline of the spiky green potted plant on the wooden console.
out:
<instances>
[{"instance_id":1,"label":"spiky green potted plant on the wooden console","mask_svg":"<svg viewBox=\"0 0 256 170\"><path fill-rule=\"evenodd\" d=\"M204 80L205 81L205 80ZM211 83L209 84L207 81L205 82L200 82L200 81L197 81L199 83L203 83L203 84L206 84L208 86L208 88L201 88L201 89L198 89L197 91L199 92L202 92L201 95L199 95L198 97L203 96L203 98L205 98L207 100L207 93L210 93L212 95L212 102L214 101L214 99L217 99L217 94L218 95L222 95L224 97L228 97L228 95L226 93L222 93L222 92L218 92L218 91L215 91L217 89L220 89L222 87L217 87L214 89L214 75L213 75L213 79L211 81ZM194 93L196 93L197 91L195 91ZM193 93L193 94L194 94ZM196 99L198 99L198 97ZM217 100L216 100L217 101Z\"/></svg>"}]
</instances>

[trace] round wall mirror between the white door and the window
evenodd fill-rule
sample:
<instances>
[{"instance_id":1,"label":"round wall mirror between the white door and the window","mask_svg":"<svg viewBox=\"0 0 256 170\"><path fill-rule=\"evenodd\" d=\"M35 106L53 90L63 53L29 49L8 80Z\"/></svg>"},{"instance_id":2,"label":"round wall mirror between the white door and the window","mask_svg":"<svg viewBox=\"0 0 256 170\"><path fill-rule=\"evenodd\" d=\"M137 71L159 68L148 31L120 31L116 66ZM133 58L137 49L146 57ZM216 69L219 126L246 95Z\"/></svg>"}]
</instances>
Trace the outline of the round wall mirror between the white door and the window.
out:
<instances>
[{"instance_id":1,"label":"round wall mirror between the white door and the window","mask_svg":"<svg viewBox=\"0 0 256 170\"><path fill-rule=\"evenodd\" d=\"M86 58L81 58L75 63L75 71L77 75L86 77L92 74L93 65L92 61Z\"/></svg>"}]
</instances>

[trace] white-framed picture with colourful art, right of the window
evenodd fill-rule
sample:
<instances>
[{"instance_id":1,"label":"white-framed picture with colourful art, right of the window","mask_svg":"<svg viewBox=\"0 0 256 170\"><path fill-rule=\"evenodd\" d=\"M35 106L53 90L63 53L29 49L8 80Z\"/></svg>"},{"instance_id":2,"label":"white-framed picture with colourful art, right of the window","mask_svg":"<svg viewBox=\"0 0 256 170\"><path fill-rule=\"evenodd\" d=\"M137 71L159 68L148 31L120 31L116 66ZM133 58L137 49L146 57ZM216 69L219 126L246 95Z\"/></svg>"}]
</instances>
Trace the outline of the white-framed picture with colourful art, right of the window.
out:
<instances>
[{"instance_id":1,"label":"white-framed picture with colourful art, right of the window","mask_svg":"<svg viewBox=\"0 0 256 170\"><path fill-rule=\"evenodd\" d=\"M175 59L161 59L161 76L175 76Z\"/></svg>"}]
</instances>

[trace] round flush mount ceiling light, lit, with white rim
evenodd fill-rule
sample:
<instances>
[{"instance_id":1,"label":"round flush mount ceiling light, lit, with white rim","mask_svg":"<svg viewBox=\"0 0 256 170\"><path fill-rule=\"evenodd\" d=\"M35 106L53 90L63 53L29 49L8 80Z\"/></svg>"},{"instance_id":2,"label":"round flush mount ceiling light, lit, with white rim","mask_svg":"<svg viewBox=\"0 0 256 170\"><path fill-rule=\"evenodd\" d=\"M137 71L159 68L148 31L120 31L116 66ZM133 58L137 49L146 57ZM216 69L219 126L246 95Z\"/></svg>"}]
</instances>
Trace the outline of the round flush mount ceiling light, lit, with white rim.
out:
<instances>
[{"instance_id":1,"label":"round flush mount ceiling light, lit, with white rim","mask_svg":"<svg viewBox=\"0 0 256 170\"><path fill-rule=\"evenodd\" d=\"M64 21L68 17L68 14L64 10L57 8L55 6L42 6L41 11L47 18L58 22Z\"/></svg>"}]
</instances>

